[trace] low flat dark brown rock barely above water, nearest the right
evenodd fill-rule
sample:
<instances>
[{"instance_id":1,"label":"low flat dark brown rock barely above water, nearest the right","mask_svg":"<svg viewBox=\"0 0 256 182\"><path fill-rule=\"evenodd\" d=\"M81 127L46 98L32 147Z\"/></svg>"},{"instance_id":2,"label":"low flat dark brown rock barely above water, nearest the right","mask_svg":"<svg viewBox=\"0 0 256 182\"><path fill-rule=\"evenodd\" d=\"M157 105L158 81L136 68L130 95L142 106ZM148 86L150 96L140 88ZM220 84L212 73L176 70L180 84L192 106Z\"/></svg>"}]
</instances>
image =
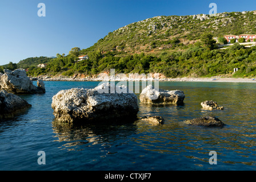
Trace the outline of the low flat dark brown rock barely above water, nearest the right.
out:
<instances>
[{"instance_id":1,"label":"low flat dark brown rock barely above water, nearest the right","mask_svg":"<svg viewBox=\"0 0 256 182\"><path fill-rule=\"evenodd\" d=\"M222 127L225 124L219 120L218 118L207 116L195 119L186 120L185 123L189 125L197 125L197 126L217 126Z\"/></svg>"}]
</instances>

